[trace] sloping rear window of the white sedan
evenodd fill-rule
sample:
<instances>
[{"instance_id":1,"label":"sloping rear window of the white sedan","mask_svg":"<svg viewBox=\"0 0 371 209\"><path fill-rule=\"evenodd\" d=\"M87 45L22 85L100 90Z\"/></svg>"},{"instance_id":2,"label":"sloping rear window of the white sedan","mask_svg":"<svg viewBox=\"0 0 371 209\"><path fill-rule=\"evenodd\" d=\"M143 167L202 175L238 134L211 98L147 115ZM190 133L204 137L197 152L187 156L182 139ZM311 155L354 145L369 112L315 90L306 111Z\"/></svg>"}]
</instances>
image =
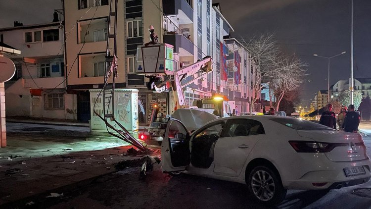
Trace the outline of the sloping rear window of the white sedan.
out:
<instances>
[{"instance_id":1,"label":"sloping rear window of the white sedan","mask_svg":"<svg viewBox=\"0 0 371 209\"><path fill-rule=\"evenodd\" d=\"M285 125L287 127L302 131L333 130L332 128L321 125L319 123L311 122L308 120L300 120L296 118L271 118L270 120Z\"/></svg>"}]
</instances>

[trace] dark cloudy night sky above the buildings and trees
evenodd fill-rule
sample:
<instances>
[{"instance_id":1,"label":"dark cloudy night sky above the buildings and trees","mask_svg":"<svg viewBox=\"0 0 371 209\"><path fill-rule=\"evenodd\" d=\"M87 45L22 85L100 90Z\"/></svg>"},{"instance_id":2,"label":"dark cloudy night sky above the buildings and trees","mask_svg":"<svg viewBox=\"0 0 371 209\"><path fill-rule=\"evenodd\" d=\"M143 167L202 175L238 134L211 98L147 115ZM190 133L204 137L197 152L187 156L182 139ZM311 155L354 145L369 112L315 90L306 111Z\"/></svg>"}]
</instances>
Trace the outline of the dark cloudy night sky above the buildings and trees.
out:
<instances>
[{"instance_id":1,"label":"dark cloudy night sky above the buildings and trees","mask_svg":"<svg viewBox=\"0 0 371 209\"><path fill-rule=\"evenodd\" d=\"M286 52L309 64L302 84L302 105L309 105L318 90L350 77L351 0L213 0L232 25L234 38L275 33ZM0 28L51 22L61 0L0 0ZM354 77L371 77L371 0L354 0ZM310 80L311 82L308 82Z\"/></svg>"}]
</instances>

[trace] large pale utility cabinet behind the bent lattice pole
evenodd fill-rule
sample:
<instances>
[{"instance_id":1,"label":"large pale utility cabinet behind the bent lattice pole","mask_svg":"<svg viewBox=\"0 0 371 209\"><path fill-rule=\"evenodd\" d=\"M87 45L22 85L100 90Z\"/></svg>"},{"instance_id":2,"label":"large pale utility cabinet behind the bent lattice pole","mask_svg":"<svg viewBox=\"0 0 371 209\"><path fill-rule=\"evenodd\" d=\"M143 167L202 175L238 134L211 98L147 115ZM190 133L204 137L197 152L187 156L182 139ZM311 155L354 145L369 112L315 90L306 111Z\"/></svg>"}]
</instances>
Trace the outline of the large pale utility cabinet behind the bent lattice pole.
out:
<instances>
[{"instance_id":1,"label":"large pale utility cabinet behind the bent lattice pole","mask_svg":"<svg viewBox=\"0 0 371 209\"><path fill-rule=\"evenodd\" d=\"M124 126L135 138L138 139L139 121L138 121L138 89L115 89L114 100L110 100L111 91L107 91L105 96L105 105L103 104L103 92L99 95L100 89L90 89L90 106L91 106L91 120L90 131L91 137L113 137L107 131L105 122L94 113L99 113L104 118L104 114L114 115L116 121ZM112 112L112 101L114 102L114 112ZM108 108L108 112L107 112ZM122 130L115 121L107 118L108 122L115 128ZM111 128L108 130L116 133ZM99 137L97 137L99 138Z\"/></svg>"}]
</instances>

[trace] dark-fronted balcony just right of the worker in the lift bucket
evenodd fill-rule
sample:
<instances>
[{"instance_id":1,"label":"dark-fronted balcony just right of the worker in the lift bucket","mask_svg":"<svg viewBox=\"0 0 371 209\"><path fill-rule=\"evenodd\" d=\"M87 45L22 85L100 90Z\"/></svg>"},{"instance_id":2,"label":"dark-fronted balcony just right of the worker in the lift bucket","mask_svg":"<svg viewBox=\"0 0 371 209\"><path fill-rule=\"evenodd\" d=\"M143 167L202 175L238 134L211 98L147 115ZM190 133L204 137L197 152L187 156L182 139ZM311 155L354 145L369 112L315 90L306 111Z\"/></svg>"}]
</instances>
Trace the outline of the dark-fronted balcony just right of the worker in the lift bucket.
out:
<instances>
[{"instance_id":1,"label":"dark-fronted balcony just right of the worker in the lift bucket","mask_svg":"<svg viewBox=\"0 0 371 209\"><path fill-rule=\"evenodd\" d=\"M181 34L167 32L164 35L164 43L173 45L174 52L180 53L180 56L193 56L193 43Z\"/></svg>"}]
</instances>

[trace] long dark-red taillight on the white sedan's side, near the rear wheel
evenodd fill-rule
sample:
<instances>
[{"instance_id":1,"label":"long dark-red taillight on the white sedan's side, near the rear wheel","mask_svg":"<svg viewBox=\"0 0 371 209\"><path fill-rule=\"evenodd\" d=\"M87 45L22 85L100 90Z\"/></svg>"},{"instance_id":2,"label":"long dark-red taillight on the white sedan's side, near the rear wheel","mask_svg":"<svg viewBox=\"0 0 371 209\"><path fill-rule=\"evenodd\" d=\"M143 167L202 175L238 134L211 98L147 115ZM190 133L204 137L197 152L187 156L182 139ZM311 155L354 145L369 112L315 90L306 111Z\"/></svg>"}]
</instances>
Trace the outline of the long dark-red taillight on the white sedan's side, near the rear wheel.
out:
<instances>
[{"instance_id":1,"label":"long dark-red taillight on the white sedan's side, near the rear wheel","mask_svg":"<svg viewBox=\"0 0 371 209\"><path fill-rule=\"evenodd\" d=\"M331 143L313 141L288 141L298 153L328 153L336 146Z\"/></svg>"}]
</instances>

